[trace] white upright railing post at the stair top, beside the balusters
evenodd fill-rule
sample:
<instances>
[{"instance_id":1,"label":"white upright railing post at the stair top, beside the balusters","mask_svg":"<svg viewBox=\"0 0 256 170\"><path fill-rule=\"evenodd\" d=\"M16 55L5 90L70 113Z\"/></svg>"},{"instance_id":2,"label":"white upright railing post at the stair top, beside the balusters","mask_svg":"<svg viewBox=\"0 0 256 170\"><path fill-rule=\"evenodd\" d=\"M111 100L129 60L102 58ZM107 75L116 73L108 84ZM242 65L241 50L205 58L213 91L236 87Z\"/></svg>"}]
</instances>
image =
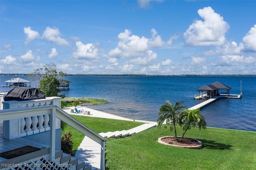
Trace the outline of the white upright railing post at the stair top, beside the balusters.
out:
<instances>
[{"instance_id":1,"label":"white upright railing post at the stair top, beside the balusters","mask_svg":"<svg viewBox=\"0 0 256 170\"><path fill-rule=\"evenodd\" d=\"M56 107L52 109L50 114L50 161L55 160L55 134L56 134Z\"/></svg>"}]
</instances>

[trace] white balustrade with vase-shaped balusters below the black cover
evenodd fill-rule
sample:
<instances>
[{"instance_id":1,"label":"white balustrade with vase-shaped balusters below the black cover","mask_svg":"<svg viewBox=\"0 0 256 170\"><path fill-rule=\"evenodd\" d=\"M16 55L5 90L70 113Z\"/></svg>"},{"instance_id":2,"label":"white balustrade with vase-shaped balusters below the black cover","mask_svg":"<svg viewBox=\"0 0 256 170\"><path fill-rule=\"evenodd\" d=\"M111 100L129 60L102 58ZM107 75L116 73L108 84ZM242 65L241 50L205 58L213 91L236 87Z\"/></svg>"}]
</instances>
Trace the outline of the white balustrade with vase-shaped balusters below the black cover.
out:
<instances>
[{"instance_id":1,"label":"white balustrade with vase-shaped balusters below the black cover","mask_svg":"<svg viewBox=\"0 0 256 170\"><path fill-rule=\"evenodd\" d=\"M8 101L2 102L4 109L16 109L16 108L28 108L36 106L48 106L57 105L60 106L59 97L51 97L40 100L28 100L28 101ZM50 116L49 114L38 114L36 116L28 117L24 116L20 119L13 119L4 121L4 138L5 139L17 139L28 135L42 133L50 130ZM56 119L56 129L60 128L60 120Z\"/></svg>"}]
</instances>

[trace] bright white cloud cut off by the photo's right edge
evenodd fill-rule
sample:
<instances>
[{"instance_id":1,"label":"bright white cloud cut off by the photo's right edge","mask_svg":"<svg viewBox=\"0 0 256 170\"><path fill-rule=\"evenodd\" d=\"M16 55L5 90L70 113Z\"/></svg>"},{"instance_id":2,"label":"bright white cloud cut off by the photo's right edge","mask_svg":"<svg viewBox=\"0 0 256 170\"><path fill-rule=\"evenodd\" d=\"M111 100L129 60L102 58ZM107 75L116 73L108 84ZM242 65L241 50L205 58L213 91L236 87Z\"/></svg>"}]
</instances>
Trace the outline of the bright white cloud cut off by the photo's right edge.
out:
<instances>
[{"instance_id":1,"label":"bright white cloud cut off by the photo's right edge","mask_svg":"<svg viewBox=\"0 0 256 170\"><path fill-rule=\"evenodd\" d=\"M250 51L256 52L256 24L251 27L250 31L243 37L245 48Z\"/></svg>"}]
</instances>

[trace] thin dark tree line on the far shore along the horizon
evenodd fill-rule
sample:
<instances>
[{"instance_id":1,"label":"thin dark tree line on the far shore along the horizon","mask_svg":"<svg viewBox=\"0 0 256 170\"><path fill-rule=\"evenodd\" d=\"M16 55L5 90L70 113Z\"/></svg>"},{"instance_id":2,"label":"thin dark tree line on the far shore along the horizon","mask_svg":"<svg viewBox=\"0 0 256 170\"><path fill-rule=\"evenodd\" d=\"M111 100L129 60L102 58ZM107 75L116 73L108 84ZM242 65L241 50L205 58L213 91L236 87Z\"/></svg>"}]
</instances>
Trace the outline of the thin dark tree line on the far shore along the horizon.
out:
<instances>
[{"instance_id":1,"label":"thin dark tree line on the far shore along the horizon","mask_svg":"<svg viewBox=\"0 0 256 170\"><path fill-rule=\"evenodd\" d=\"M21 73L2 73L4 76L28 76L28 74ZM66 76L137 76L137 77L256 77L256 74L66 74Z\"/></svg>"}]
</instances>

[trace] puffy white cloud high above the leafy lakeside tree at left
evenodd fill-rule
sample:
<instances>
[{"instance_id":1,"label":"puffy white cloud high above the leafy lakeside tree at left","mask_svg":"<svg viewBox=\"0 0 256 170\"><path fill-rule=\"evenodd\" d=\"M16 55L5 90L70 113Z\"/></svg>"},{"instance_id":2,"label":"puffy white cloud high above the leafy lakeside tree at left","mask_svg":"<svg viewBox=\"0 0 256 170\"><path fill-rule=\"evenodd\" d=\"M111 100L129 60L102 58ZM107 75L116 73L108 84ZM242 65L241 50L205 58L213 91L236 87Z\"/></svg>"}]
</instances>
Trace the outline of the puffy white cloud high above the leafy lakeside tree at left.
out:
<instances>
[{"instance_id":1,"label":"puffy white cloud high above the leafy lakeside tree at left","mask_svg":"<svg viewBox=\"0 0 256 170\"><path fill-rule=\"evenodd\" d=\"M46 27L42 38L51 41L56 45L68 45L68 41L66 41L64 38L61 38L60 34L61 33L58 28Z\"/></svg>"}]
</instances>

